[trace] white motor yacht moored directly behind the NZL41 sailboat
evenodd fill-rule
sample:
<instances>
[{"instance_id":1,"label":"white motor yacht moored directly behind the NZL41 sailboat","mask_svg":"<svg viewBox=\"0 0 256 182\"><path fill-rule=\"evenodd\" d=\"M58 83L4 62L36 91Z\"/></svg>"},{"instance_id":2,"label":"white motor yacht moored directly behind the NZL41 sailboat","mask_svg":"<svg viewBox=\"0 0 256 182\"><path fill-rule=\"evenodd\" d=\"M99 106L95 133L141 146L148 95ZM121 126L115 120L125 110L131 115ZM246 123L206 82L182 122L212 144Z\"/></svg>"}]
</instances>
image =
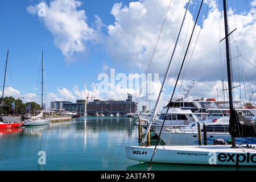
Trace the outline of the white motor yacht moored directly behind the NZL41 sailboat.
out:
<instances>
[{"instance_id":1,"label":"white motor yacht moored directly behind the NZL41 sailboat","mask_svg":"<svg viewBox=\"0 0 256 182\"><path fill-rule=\"evenodd\" d=\"M228 143L231 139L229 134L229 108L207 109L209 117L203 121L191 122L185 127L176 129L175 127L164 128L160 138L166 144L171 145L198 145L198 123L200 123L201 139L204 140L203 125L206 125L207 143L214 144L214 139L223 139ZM243 117L256 121L256 109L237 108ZM159 129L155 129L155 133L159 135ZM237 143L244 143L249 138L236 138ZM255 144L256 139L251 139L249 144Z\"/></svg>"}]
</instances>

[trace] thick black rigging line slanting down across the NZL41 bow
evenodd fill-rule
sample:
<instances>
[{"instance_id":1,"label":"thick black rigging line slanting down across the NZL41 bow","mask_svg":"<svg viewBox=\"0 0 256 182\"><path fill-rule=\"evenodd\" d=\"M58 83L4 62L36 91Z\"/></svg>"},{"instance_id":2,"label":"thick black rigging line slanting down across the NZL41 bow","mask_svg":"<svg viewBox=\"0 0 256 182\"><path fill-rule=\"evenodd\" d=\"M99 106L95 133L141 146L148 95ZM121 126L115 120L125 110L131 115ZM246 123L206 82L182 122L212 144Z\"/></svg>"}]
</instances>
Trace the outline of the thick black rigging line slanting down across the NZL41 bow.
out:
<instances>
[{"instance_id":1,"label":"thick black rigging line slanting down across the NZL41 bow","mask_svg":"<svg viewBox=\"0 0 256 182\"><path fill-rule=\"evenodd\" d=\"M187 50L186 50L185 55L184 55L183 63L181 64L181 67L180 67L179 75L178 75L178 77L177 77L174 90L173 90L173 92L172 92L172 97L174 96L174 92L175 92L175 89L176 89L176 86L177 86L177 81L179 80L180 72L181 72L181 69L182 69L182 67L183 67L183 64L184 64L184 61L185 61L187 52L188 52L188 47L189 47L189 45L190 45L190 43L191 43L191 39L192 39L192 36L193 36L193 32L194 32L194 30L195 30L195 26L196 26L196 23L197 23L197 19L199 18L199 14L200 14L201 7L202 7L202 5L203 5L203 2L204 2L204 0L202 0L201 5L200 5L200 8L199 8L199 12L198 12L198 14L197 14L197 16L196 16L196 21L195 21L195 24L194 24L194 27L193 27L193 30L192 30L192 33L191 33L191 37L190 37L189 42L188 42L188 46L187 46ZM172 101L172 97L171 97L170 102ZM170 108L170 106L168 105L166 114L168 113L169 108ZM161 133L162 133L162 130L163 130L163 126L164 126L164 122L165 122L165 121L166 121L166 117L164 117L164 121L163 121L161 130L160 130L160 133L159 133L159 135L158 135L158 140L157 140L157 142L156 142L156 144L155 144L155 149L154 149L154 151L153 151L153 154L152 154L152 157L151 157L151 160L150 160L150 164L148 165L147 170L150 170L150 169L151 169L152 159L154 158L154 154L155 154L155 152L156 152L156 147L158 146L159 139L160 139L160 135L161 135Z\"/></svg>"}]
</instances>

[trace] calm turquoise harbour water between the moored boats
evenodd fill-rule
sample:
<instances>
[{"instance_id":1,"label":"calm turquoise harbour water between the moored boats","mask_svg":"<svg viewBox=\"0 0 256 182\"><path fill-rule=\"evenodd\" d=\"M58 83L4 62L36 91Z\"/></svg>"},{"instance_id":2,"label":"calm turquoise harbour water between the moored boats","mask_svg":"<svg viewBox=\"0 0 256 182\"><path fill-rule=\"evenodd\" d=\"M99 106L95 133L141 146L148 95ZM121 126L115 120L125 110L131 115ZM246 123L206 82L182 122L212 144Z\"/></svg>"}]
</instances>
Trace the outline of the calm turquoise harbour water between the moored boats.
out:
<instances>
[{"instance_id":1,"label":"calm turquoise harbour water between the moored boats","mask_svg":"<svg viewBox=\"0 0 256 182\"><path fill-rule=\"evenodd\" d=\"M146 170L148 163L125 156L126 145L138 145L134 122L122 117L81 117L77 121L53 122L46 126L0 130L0 170ZM38 164L39 151L46 152L45 165ZM256 168L152 164L152 170Z\"/></svg>"}]
</instances>

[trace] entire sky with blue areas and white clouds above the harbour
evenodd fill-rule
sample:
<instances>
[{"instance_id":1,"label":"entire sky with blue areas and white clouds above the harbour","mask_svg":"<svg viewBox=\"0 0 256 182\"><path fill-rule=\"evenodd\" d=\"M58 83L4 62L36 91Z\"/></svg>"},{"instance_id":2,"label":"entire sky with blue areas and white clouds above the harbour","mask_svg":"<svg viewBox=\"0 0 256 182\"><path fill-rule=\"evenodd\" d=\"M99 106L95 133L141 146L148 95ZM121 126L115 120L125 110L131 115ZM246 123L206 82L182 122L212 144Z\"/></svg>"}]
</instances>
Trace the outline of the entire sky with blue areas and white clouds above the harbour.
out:
<instances>
[{"instance_id":1,"label":"entire sky with blue areas and white clouds above the harbour","mask_svg":"<svg viewBox=\"0 0 256 182\"><path fill-rule=\"evenodd\" d=\"M88 94L89 98L101 100L125 100L130 93L133 98L140 96L140 105L146 105L146 84L140 95L139 92L143 74L150 65L148 73L153 76L148 83L148 98L152 109L188 0L3 0L1 3L1 94L9 49L5 96L40 104L43 51L44 94L47 94L44 100L75 102ZM170 99L200 3L192 0L189 4L164 86L162 106ZM230 35L233 85L241 85L234 89L234 97L249 100L256 85L256 1L229 0L228 10L229 30L237 28ZM196 80L191 96L224 99L222 80L227 85L227 78L222 38L222 1L204 1L175 96L182 96L183 89ZM135 86L129 85L129 78L141 78L139 86L136 81Z\"/></svg>"}]
</instances>

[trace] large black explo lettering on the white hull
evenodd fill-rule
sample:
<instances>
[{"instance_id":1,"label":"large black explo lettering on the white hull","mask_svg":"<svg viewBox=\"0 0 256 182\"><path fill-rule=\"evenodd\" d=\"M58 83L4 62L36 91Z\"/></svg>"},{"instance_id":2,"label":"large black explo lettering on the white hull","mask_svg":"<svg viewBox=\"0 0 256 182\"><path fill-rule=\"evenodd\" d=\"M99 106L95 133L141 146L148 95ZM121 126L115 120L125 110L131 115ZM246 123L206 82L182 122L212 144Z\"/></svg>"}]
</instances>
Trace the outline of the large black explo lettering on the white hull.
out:
<instances>
[{"instance_id":1,"label":"large black explo lettering on the white hull","mask_svg":"<svg viewBox=\"0 0 256 182\"><path fill-rule=\"evenodd\" d=\"M250 155L250 152L247 152L246 154L220 153L218 154L218 161L219 162L236 162L236 165L244 162L256 163L256 154Z\"/></svg>"}]
</instances>

